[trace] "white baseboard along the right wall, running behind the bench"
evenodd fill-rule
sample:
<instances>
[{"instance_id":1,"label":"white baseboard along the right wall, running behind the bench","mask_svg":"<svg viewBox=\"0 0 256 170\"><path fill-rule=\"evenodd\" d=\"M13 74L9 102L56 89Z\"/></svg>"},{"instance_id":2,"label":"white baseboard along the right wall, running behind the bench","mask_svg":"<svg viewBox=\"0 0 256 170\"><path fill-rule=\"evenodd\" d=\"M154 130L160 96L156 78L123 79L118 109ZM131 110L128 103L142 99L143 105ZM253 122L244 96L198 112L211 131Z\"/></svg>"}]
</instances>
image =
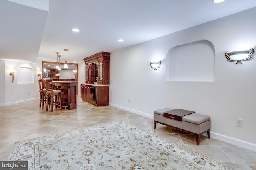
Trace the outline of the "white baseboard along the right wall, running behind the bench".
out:
<instances>
[{"instance_id":1,"label":"white baseboard along the right wall, running behind the bench","mask_svg":"<svg viewBox=\"0 0 256 170\"><path fill-rule=\"evenodd\" d=\"M153 119L153 115L149 115L148 113L143 113L141 111L136 111L136 110L133 110L133 109L129 109L127 107L118 106L116 104L109 104L109 105ZM222 135L222 134L219 134L219 133L215 133L215 132L212 132L212 131L211 131L210 137L214 138L214 139L218 139L220 141L231 143L233 145L237 145L238 147L243 147L243 148L246 148L246 149L256 151L256 144L254 144L254 143L249 143L249 142L246 142L246 141L242 141L240 139L236 139L236 138L229 137L229 136L226 136L226 135Z\"/></svg>"}]
</instances>

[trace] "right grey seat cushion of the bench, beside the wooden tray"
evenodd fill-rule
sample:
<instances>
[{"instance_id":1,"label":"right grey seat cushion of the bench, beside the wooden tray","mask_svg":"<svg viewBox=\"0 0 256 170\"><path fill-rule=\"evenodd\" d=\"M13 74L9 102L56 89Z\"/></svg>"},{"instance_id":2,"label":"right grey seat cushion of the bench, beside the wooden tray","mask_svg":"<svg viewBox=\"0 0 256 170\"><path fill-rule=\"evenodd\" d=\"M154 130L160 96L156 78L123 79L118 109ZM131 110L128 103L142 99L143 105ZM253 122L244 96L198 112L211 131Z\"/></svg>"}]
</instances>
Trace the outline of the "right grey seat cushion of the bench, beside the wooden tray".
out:
<instances>
[{"instance_id":1,"label":"right grey seat cushion of the bench, beside the wooden tray","mask_svg":"<svg viewBox=\"0 0 256 170\"><path fill-rule=\"evenodd\" d=\"M200 125L201 123L210 120L210 116L192 113L190 115L182 116L181 120Z\"/></svg>"}]
</instances>

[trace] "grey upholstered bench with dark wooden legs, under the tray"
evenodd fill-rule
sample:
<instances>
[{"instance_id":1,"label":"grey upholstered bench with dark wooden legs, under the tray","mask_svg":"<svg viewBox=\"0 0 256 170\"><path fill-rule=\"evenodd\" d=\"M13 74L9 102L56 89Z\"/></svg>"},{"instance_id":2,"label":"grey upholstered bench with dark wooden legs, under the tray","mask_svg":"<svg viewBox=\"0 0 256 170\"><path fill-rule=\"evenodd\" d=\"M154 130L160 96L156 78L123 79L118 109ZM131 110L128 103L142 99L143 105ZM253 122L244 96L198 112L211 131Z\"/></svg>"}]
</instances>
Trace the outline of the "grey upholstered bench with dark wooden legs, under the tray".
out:
<instances>
[{"instance_id":1,"label":"grey upholstered bench with dark wooden legs, under the tray","mask_svg":"<svg viewBox=\"0 0 256 170\"><path fill-rule=\"evenodd\" d=\"M181 131L196 135L196 144L199 145L200 135L207 132L208 138L210 138L210 116L191 113L189 115L182 116L181 121L164 117L164 112L171 111L173 109L159 109L154 111L154 129L156 129L156 123L174 127Z\"/></svg>"}]
</instances>

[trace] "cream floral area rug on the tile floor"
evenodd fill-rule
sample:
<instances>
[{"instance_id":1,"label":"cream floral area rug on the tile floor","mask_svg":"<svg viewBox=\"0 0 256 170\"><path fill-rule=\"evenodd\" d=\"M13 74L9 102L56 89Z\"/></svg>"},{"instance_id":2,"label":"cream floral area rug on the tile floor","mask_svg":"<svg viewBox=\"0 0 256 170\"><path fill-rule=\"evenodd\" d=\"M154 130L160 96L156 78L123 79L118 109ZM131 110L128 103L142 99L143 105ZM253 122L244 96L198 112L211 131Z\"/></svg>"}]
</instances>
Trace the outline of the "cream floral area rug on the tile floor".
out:
<instances>
[{"instance_id":1,"label":"cream floral area rug on the tile floor","mask_svg":"<svg viewBox=\"0 0 256 170\"><path fill-rule=\"evenodd\" d=\"M8 160L29 170L232 170L125 121L19 141Z\"/></svg>"}]
</instances>

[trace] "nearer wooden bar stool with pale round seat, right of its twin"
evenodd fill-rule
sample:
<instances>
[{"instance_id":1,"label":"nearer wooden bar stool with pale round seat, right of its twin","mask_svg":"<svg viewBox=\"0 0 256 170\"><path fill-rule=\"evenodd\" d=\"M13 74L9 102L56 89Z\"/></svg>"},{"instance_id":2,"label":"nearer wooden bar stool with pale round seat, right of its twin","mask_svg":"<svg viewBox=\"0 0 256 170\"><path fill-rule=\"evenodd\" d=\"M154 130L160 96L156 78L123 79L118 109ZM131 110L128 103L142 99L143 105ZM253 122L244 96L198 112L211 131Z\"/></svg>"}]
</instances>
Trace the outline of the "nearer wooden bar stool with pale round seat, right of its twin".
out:
<instances>
[{"instance_id":1,"label":"nearer wooden bar stool with pale round seat, right of its twin","mask_svg":"<svg viewBox=\"0 0 256 170\"><path fill-rule=\"evenodd\" d=\"M55 105L55 109L57 109L57 106L59 106L60 110L62 110L61 98L60 98L61 91L54 90L53 88L51 88L53 87L52 79L45 80L45 85L46 85L46 94L47 94L46 111L48 111L49 105L51 105L51 112L53 111L53 105Z\"/></svg>"}]
</instances>

